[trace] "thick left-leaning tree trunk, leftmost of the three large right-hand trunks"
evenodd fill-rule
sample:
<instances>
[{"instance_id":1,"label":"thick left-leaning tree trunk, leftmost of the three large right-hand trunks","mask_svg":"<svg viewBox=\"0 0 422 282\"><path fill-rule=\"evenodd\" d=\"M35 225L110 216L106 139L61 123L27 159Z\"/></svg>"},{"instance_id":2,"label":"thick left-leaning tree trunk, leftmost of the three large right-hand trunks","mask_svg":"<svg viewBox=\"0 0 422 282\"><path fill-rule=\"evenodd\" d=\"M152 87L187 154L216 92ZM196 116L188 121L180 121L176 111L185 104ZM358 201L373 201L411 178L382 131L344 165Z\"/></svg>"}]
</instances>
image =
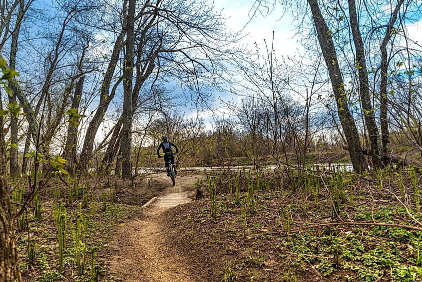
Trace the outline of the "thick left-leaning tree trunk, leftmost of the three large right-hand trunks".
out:
<instances>
[{"instance_id":1,"label":"thick left-leaning tree trunk, leftmost of the three large right-hand trunks","mask_svg":"<svg viewBox=\"0 0 422 282\"><path fill-rule=\"evenodd\" d=\"M331 31L328 29L328 26L322 16L317 0L308 0L308 3L311 6L312 17L317 30L318 40L328 67L328 73L339 111L340 122L350 148L350 158L352 160L353 168L359 173L368 168L368 163L362 152L359 132L347 103L342 73L337 60L336 49L331 36Z\"/></svg>"}]
</instances>

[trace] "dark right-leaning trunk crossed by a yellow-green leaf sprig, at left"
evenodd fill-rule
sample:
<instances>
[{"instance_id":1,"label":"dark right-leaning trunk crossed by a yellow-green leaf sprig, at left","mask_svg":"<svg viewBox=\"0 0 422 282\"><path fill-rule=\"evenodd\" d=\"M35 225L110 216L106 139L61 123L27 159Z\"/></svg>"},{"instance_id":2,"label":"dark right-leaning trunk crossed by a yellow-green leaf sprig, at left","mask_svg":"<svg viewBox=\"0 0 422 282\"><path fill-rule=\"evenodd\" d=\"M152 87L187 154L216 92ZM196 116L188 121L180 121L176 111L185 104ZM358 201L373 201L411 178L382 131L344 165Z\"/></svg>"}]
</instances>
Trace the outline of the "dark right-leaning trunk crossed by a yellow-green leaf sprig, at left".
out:
<instances>
[{"instance_id":1,"label":"dark right-leaning trunk crossed by a yellow-green leaf sprig, at left","mask_svg":"<svg viewBox=\"0 0 422 282\"><path fill-rule=\"evenodd\" d=\"M79 111L80 98L82 96L84 80L85 80L85 76L82 76L79 78L78 82L76 83L75 93L72 98L71 108L75 108L78 111ZM76 122L79 122L79 118L77 118ZM68 161L71 167L74 167L76 163L76 145L77 145L77 133L78 133L77 128L78 128L77 124L73 124L72 122L69 121L63 156Z\"/></svg>"}]
</instances>

